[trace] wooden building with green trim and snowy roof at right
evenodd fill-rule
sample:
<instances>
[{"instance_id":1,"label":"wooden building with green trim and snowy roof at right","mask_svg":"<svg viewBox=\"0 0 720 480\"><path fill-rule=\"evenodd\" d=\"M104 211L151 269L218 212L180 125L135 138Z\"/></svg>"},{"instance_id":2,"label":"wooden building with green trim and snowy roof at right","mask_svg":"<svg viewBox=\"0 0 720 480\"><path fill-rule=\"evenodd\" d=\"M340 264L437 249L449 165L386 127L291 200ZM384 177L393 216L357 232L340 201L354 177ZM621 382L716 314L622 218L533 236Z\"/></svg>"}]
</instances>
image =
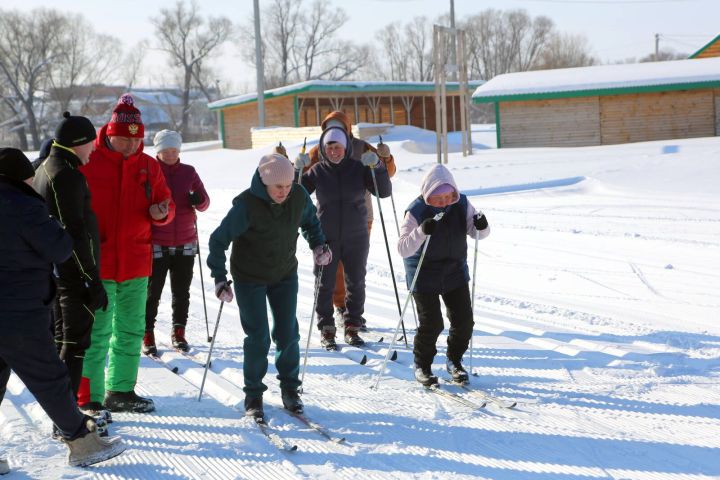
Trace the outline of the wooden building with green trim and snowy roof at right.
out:
<instances>
[{"instance_id":1,"label":"wooden building with green trim and snowy roof at right","mask_svg":"<svg viewBox=\"0 0 720 480\"><path fill-rule=\"evenodd\" d=\"M498 75L497 145L577 147L720 135L720 58Z\"/></svg>"}]
</instances>

